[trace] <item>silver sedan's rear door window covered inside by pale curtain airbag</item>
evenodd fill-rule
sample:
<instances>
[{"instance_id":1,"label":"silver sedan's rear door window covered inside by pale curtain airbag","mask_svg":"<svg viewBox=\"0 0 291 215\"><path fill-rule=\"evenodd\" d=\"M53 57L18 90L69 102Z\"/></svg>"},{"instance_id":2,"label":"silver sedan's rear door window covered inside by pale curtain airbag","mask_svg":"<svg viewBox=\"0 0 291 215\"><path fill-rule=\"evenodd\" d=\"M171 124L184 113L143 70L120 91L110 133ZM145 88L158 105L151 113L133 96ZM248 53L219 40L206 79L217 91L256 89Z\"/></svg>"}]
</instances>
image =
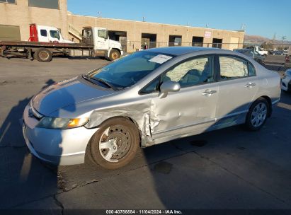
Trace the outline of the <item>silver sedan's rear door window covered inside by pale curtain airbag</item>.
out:
<instances>
[{"instance_id":1,"label":"silver sedan's rear door window covered inside by pale curtain airbag","mask_svg":"<svg viewBox=\"0 0 291 215\"><path fill-rule=\"evenodd\" d=\"M220 79L236 79L249 74L248 63L235 57L219 57Z\"/></svg>"}]
</instances>

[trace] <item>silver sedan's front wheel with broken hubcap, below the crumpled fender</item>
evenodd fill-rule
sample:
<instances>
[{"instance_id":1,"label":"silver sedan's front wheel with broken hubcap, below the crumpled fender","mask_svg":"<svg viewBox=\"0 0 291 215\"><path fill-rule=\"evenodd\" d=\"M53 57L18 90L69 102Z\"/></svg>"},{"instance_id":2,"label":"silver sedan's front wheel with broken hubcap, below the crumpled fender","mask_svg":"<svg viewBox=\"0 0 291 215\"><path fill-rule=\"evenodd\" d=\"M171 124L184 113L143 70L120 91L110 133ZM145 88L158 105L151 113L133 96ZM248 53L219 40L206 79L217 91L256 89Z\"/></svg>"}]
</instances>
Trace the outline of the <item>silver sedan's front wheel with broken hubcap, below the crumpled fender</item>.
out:
<instances>
[{"instance_id":1,"label":"silver sedan's front wheel with broken hubcap, below the crumpled fender","mask_svg":"<svg viewBox=\"0 0 291 215\"><path fill-rule=\"evenodd\" d=\"M139 130L133 122L125 117L114 117L103 122L92 136L91 157L103 168L118 169L135 158L139 141Z\"/></svg>"}]
</instances>

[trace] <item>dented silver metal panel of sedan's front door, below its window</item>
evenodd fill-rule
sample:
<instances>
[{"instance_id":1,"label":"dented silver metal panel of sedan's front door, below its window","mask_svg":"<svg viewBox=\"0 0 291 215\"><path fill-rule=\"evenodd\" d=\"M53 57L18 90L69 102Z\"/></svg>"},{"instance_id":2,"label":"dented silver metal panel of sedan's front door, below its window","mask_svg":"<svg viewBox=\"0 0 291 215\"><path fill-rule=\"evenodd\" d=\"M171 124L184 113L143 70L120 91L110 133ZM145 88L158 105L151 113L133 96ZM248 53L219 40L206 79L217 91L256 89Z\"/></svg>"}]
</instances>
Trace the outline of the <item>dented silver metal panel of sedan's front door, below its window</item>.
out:
<instances>
[{"instance_id":1,"label":"dented silver metal panel of sedan's front door, below its window","mask_svg":"<svg viewBox=\"0 0 291 215\"><path fill-rule=\"evenodd\" d=\"M206 90L217 93L202 95ZM150 115L153 139L171 136L176 129L194 124L210 127L216 117L218 94L217 83L183 88L177 93L169 93L166 98L159 98L156 93L152 98Z\"/></svg>"}]
</instances>

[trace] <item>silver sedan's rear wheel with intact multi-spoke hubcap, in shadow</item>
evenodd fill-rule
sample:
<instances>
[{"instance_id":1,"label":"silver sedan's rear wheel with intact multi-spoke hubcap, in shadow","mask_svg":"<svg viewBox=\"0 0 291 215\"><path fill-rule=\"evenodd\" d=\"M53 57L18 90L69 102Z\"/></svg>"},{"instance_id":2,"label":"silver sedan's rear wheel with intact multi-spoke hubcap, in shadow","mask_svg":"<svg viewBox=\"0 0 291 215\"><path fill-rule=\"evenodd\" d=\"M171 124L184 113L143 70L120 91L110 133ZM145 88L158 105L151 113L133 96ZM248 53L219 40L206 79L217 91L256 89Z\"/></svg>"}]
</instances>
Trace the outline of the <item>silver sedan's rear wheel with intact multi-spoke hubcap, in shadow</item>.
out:
<instances>
[{"instance_id":1,"label":"silver sedan's rear wheel with intact multi-spoke hubcap, in shadow","mask_svg":"<svg viewBox=\"0 0 291 215\"><path fill-rule=\"evenodd\" d=\"M246 115L246 128L250 131L261 129L261 127L266 123L269 114L270 104L268 101L265 98L258 98L258 100L253 102L251 108L249 108L248 114Z\"/></svg>"}]
</instances>

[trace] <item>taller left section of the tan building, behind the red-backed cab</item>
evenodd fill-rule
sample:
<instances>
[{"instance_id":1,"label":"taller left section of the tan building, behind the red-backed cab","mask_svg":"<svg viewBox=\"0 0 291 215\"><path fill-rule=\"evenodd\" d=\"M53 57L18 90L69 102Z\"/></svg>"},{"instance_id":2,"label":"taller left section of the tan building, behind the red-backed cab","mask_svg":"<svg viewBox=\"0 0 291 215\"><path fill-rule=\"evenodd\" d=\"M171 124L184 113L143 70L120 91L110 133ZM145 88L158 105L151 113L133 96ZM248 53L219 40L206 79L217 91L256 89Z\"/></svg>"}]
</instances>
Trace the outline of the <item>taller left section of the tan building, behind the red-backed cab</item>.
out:
<instances>
[{"instance_id":1,"label":"taller left section of the tan building, behind the red-backed cab","mask_svg":"<svg viewBox=\"0 0 291 215\"><path fill-rule=\"evenodd\" d=\"M59 28L68 37L67 0L0 0L0 40L28 40L29 25Z\"/></svg>"}]
</instances>

